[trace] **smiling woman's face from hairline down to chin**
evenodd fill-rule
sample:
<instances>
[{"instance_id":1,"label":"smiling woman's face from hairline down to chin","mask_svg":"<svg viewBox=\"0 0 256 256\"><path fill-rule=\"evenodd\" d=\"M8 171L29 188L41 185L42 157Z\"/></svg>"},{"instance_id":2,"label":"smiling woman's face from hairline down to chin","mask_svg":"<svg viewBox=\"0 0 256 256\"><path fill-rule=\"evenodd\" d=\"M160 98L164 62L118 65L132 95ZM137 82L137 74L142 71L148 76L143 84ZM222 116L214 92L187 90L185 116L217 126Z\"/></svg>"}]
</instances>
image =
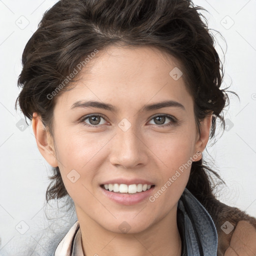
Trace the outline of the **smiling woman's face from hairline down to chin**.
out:
<instances>
[{"instance_id":1,"label":"smiling woman's face from hairline down to chin","mask_svg":"<svg viewBox=\"0 0 256 256\"><path fill-rule=\"evenodd\" d=\"M175 216L191 162L207 143L210 119L199 138L193 100L173 57L148 46L114 45L96 56L75 86L56 98L56 159L44 156L59 166L78 220L139 232ZM88 101L99 103L86 106ZM109 183L124 184L122 191L131 185L131 193L107 191L103 185ZM132 193L139 183L152 186Z\"/></svg>"}]
</instances>

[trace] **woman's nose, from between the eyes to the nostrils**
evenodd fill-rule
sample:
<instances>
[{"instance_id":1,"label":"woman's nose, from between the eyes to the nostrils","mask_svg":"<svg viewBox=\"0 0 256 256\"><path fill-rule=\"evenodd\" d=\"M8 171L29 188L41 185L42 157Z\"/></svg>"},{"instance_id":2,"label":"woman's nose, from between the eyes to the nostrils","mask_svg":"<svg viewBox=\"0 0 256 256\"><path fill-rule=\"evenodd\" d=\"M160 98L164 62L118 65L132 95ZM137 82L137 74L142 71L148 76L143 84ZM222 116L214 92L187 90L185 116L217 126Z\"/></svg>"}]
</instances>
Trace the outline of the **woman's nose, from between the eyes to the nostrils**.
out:
<instances>
[{"instance_id":1,"label":"woman's nose, from between the eyes to the nostrils","mask_svg":"<svg viewBox=\"0 0 256 256\"><path fill-rule=\"evenodd\" d=\"M116 128L116 134L111 140L110 162L124 168L136 168L146 164L148 160L147 147L143 135L135 125L127 130Z\"/></svg>"}]
</instances>

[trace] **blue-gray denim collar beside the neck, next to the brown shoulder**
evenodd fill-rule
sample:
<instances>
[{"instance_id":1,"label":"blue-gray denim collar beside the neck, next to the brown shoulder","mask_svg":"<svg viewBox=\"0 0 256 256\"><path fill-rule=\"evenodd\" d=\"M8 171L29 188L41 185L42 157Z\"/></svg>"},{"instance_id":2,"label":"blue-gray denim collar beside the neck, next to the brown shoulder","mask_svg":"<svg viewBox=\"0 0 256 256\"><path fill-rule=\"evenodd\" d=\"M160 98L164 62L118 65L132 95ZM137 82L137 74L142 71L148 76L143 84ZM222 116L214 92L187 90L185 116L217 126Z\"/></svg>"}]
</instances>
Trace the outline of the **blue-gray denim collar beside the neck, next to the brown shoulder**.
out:
<instances>
[{"instance_id":1,"label":"blue-gray denim collar beside the neck, next to the brown shoulder","mask_svg":"<svg viewBox=\"0 0 256 256\"><path fill-rule=\"evenodd\" d=\"M181 256L217 254L217 231L214 222L187 188L178 201L177 225L182 240Z\"/></svg>"}]
</instances>

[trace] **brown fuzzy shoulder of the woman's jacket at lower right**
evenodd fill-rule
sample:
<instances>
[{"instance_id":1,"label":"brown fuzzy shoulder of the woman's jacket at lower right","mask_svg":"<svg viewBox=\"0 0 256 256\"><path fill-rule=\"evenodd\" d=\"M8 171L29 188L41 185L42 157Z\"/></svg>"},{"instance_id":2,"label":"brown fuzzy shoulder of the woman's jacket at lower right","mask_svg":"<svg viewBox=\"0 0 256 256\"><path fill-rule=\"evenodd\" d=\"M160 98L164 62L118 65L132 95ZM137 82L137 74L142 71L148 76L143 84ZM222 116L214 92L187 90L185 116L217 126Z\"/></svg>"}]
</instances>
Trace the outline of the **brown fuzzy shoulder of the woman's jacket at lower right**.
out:
<instances>
[{"instance_id":1,"label":"brown fuzzy shoulder of the woman's jacket at lower right","mask_svg":"<svg viewBox=\"0 0 256 256\"><path fill-rule=\"evenodd\" d=\"M255 217L217 199L211 201L208 211L217 229L218 256L256 255Z\"/></svg>"}]
</instances>

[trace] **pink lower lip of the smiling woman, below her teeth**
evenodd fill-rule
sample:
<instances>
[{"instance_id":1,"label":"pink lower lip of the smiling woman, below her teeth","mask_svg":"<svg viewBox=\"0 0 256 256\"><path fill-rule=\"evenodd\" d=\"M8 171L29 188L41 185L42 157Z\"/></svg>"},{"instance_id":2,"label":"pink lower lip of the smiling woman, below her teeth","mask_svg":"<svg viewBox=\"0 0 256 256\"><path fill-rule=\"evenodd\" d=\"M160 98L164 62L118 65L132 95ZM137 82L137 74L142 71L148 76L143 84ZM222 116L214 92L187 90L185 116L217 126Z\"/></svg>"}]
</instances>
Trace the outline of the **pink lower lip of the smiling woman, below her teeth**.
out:
<instances>
[{"instance_id":1,"label":"pink lower lip of the smiling woman, below her teeth","mask_svg":"<svg viewBox=\"0 0 256 256\"><path fill-rule=\"evenodd\" d=\"M134 194L126 194L126 193L115 193L104 188L101 188L104 195L106 195L109 199L124 205L132 205L143 201L145 198L149 197L155 186L150 187L146 191L137 192Z\"/></svg>"}]
</instances>

